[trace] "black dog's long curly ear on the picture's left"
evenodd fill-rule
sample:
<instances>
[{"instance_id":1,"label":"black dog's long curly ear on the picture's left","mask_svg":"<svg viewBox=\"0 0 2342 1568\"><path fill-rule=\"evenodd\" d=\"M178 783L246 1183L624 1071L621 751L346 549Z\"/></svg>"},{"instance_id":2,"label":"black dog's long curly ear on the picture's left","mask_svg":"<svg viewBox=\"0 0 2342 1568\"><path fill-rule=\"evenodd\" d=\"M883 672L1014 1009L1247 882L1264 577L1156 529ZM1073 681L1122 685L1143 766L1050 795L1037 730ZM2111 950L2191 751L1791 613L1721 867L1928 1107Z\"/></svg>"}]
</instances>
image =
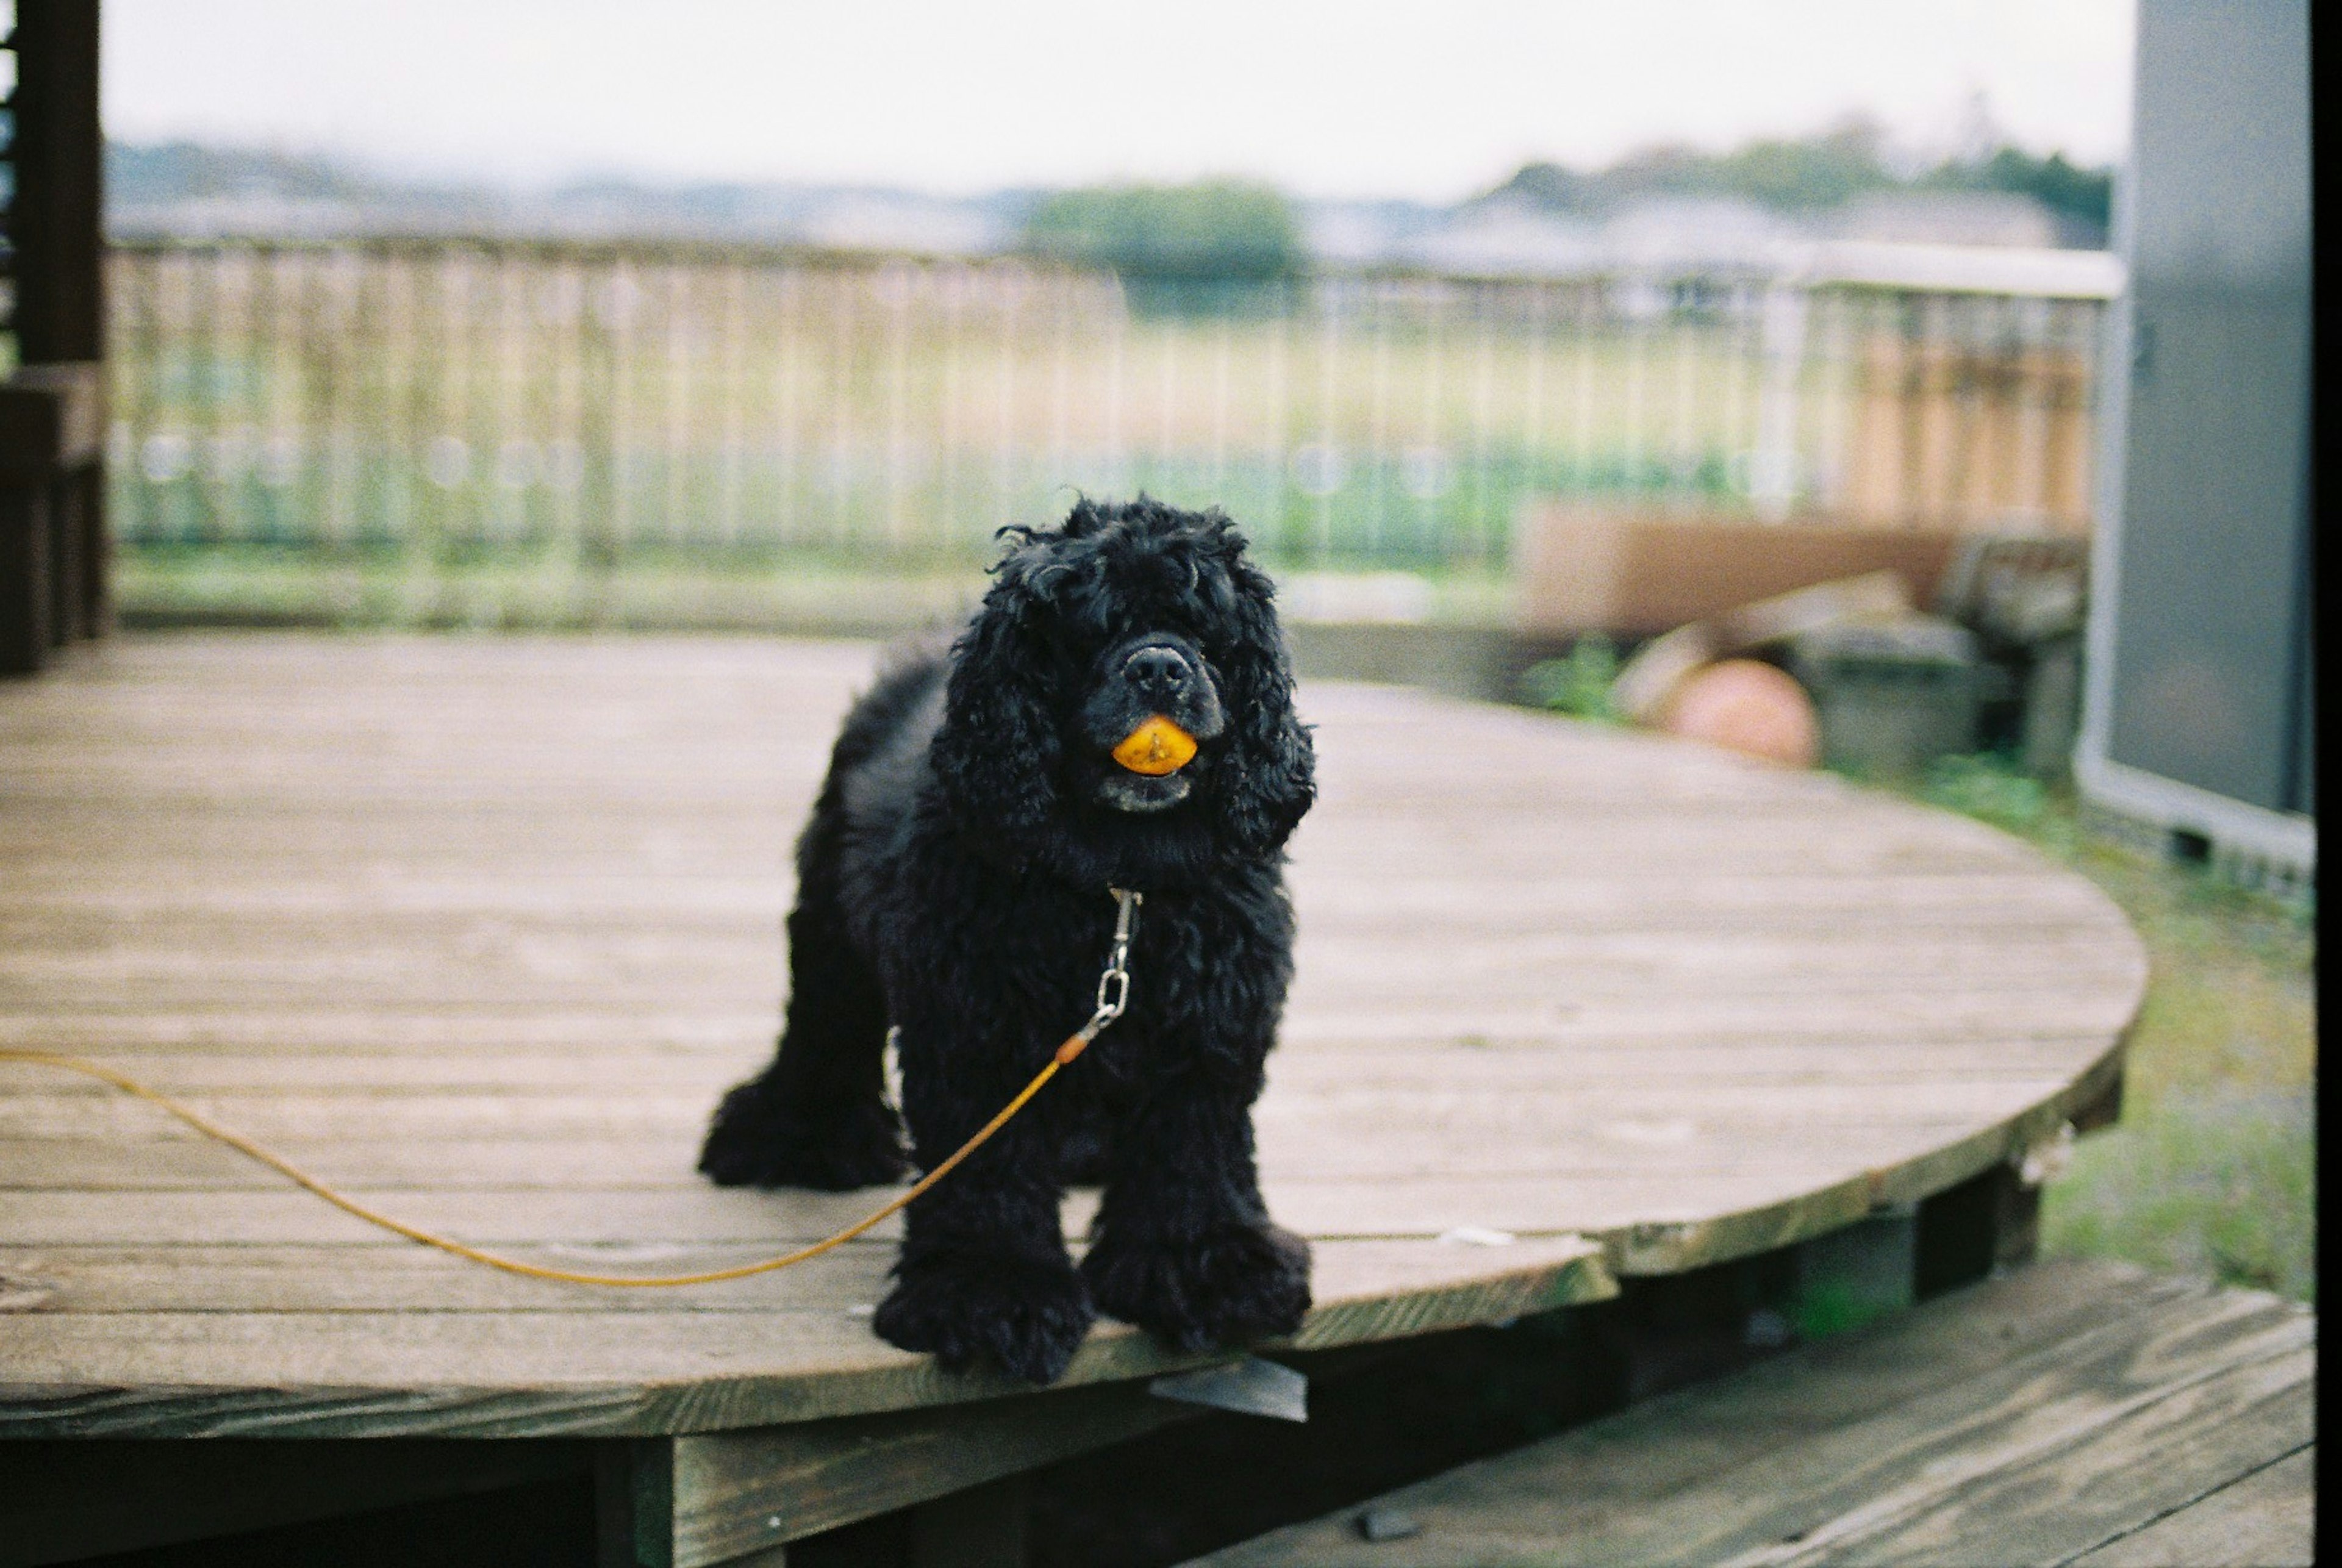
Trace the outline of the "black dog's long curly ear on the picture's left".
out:
<instances>
[{"instance_id":1,"label":"black dog's long curly ear on the picture's left","mask_svg":"<svg viewBox=\"0 0 2342 1568\"><path fill-rule=\"evenodd\" d=\"M1009 555L951 648L944 723L930 758L953 819L1023 850L1056 807L1063 740L1049 709L1049 651L1030 630L1026 552Z\"/></svg>"}]
</instances>

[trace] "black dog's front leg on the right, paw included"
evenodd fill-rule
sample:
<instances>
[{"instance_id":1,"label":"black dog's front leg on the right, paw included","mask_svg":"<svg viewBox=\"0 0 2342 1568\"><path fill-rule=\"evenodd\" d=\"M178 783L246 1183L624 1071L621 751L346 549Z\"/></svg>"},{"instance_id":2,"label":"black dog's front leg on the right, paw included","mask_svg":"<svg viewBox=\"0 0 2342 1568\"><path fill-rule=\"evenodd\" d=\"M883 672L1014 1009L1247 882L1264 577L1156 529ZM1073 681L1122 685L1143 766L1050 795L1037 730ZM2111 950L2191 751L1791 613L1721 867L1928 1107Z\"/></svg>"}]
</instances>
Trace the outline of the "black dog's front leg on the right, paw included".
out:
<instances>
[{"instance_id":1,"label":"black dog's front leg on the right, paw included","mask_svg":"<svg viewBox=\"0 0 2342 1568\"><path fill-rule=\"evenodd\" d=\"M1309 1311L1309 1243L1260 1201L1260 1074L1234 1065L1262 1053L1197 1051L1115 1130L1082 1278L1098 1311L1183 1350L1290 1334Z\"/></svg>"}]
</instances>

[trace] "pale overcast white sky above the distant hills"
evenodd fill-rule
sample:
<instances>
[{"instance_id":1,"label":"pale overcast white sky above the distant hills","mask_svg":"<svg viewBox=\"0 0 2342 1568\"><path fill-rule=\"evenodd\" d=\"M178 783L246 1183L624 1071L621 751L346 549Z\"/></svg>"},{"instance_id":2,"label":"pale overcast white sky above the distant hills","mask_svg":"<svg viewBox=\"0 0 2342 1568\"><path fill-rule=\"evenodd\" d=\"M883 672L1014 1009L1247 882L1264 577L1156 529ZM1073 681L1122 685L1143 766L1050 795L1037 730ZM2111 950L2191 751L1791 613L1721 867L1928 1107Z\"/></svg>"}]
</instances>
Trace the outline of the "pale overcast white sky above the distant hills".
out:
<instances>
[{"instance_id":1,"label":"pale overcast white sky above the distant hills","mask_svg":"<svg viewBox=\"0 0 2342 1568\"><path fill-rule=\"evenodd\" d=\"M400 173L1253 176L1452 201L1527 159L1869 110L2120 157L2131 0L105 0L105 129Z\"/></svg>"}]
</instances>

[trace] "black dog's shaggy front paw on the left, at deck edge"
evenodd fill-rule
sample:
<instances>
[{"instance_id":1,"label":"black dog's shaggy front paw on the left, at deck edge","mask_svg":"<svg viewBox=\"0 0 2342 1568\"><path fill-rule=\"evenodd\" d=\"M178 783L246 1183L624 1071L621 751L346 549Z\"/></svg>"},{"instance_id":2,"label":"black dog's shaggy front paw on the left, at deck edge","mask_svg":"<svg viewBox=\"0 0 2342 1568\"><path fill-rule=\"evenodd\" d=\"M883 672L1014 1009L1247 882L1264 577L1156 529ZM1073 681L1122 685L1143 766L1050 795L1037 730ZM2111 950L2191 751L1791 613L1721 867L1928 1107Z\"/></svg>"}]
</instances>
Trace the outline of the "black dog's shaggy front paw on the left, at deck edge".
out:
<instances>
[{"instance_id":1,"label":"black dog's shaggy front paw on the left, at deck edge","mask_svg":"<svg viewBox=\"0 0 2342 1568\"><path fill-rule=\"evenodd\" d=\"M1091 1318L1089 1287L1063 1257L949 1250L897 1264L871 1327L904 1350L932 1350L949 1371L988 1362L1054 1383Z\"/></svg>"}]
</instances>

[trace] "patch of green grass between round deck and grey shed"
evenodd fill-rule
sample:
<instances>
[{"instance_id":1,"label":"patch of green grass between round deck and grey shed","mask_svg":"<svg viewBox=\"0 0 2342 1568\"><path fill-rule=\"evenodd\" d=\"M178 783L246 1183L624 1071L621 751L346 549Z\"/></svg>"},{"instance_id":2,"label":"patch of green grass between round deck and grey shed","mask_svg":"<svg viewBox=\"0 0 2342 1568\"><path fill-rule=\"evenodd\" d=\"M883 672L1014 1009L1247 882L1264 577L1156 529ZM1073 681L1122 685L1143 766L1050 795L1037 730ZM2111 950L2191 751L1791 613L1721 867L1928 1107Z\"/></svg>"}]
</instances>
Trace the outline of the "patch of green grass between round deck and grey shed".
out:
<instances>
[{"instance_id":1,"label":"patch of green grass between round deck and grey shed","mask_svg":"<svg viewBox=\"0 0 2342 1568\"><path fill-rule=\"evenodd\" d=\"M2042 1194L2042 1250L2316 1301L2316 929L2295 908L2084 831L2070 791L1946 758L1911 793L2087 875L2148 945L2122 1121Z\"/></svg>"}]
</instances>

